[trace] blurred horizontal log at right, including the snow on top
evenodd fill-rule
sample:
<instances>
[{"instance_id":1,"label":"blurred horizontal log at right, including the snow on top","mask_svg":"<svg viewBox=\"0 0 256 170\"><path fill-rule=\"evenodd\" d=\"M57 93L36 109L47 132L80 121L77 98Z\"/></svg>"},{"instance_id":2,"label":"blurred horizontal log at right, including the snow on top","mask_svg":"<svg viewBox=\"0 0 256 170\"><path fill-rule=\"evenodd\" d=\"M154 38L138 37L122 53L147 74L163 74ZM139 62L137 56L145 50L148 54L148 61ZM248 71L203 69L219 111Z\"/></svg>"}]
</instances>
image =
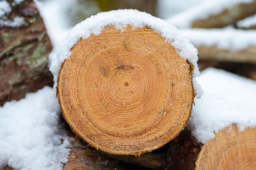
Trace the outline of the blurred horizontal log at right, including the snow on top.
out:
<instances>
[{"instance_id":1,"label":"blurred horizontal log at right, including the snow on top","mask_svg":"<svg viewBox=\"0 0 256 170\"><path fill-rule=\"evenodd\" d=\"M256 31L183 29L182 32L198 49L200 60L256 63Z\"/></svg>"}]
</instances>

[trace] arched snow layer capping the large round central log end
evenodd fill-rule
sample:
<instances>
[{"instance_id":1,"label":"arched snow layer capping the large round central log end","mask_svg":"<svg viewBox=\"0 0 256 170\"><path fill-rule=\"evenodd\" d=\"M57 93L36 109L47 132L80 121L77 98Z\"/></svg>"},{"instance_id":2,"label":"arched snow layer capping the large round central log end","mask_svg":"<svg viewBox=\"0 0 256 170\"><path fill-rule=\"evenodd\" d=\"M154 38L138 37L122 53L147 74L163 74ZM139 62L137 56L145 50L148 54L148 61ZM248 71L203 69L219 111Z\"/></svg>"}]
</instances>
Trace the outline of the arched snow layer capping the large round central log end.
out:
<instances>
[{"instance_id":1,"label":"arched snow layer capping the large round central log end","mask_svg":"<svg viewBox=\"0 0 256 170\"><path fill-rule=\"evenodd\" d=\"M98 13L83 22L77 24L67 36L61 41L56 55L57 57L51 60L50 70L54 75L54 81L58 78L61 63L67 59L71 52L70 49L80 38L89 38L91 34L99 35L102 29L107 25L114 25L116 29L122 31L127 25L132 27L148 26L161 36L166 38L166 42L170 43L183 59L188 59L194 66L193 78L199 75L197 66L197 50L189 43L189 40L184 38L182 34L173 25L168 24L160 18L152 17L152 15L140 12L138 10L116 10L105 13ZM202 93L200 86L193 80L195 92L200 96Z\"/></svg>"}]
</instances>

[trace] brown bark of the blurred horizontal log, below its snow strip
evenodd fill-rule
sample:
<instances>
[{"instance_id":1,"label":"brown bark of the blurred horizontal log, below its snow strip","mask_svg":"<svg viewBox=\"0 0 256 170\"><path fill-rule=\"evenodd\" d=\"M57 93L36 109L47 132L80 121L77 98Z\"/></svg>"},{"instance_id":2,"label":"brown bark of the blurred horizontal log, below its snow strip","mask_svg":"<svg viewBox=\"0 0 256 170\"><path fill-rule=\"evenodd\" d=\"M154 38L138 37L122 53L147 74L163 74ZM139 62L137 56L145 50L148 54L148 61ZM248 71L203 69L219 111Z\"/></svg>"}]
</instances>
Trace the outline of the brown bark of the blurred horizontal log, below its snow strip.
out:
<instances>
[{"instance_id":1,"label":"brown bark of the blurred horizontal log, below its snow strip","mask_svg":"<svg viewBox=\"0 0 256 170\"><path fill-rule=\"evenodd\" d=\"M196 46L200 60L220 62L243 62L256 64L256 47L250 46L243 50L221 49L217 46Z\"/></svg>"}]
</instances>

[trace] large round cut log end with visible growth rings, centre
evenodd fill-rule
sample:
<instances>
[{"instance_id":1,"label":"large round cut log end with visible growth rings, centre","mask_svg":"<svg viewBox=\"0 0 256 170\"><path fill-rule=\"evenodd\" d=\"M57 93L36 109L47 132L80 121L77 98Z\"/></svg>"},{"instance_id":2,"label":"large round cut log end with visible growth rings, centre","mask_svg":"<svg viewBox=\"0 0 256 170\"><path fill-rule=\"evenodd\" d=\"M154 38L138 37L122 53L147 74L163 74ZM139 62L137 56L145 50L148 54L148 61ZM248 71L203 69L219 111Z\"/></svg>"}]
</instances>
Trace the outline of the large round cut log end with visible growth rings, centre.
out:
<instances>
[{"instance_id":1,"label":"large round cut log end with visible growth rings, centre","mask_svg":"<svg viewBox=\"0 0 256 170\"><path fill-rule=\"evenodd\" d=\"M154 30L108 26L73 46L60 69L58 98L63 117L90 145L139 155L186 126L191 74L189 63Z\"/></svg>"}]
</instances>

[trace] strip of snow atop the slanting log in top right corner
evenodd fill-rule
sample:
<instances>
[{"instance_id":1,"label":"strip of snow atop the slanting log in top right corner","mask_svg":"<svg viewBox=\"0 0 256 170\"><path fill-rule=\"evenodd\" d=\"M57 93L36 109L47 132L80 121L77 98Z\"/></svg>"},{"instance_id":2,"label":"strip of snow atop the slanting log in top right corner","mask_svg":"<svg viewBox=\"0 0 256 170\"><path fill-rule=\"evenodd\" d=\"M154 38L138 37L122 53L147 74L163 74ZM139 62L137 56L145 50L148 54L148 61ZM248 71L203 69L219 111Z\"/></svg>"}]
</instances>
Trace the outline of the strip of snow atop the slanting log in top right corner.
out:
<instances>
[{"instance_id":1,"label":"strip of snow atop the slanting log in top right corner","mask_svg":"<svg viewBox=\"0 0 256 170\"><path fill-rule=\"evenodd\" d=\"M167 18L166 21L176 27L191 27L193 21L198 19L204 19L211 15L216 15L225 9L232 8L237 4L251 3L253 0L214 0L205 1L197 6L193 6L184 12L173 15Z\"/></svg>"}]
</instances>

